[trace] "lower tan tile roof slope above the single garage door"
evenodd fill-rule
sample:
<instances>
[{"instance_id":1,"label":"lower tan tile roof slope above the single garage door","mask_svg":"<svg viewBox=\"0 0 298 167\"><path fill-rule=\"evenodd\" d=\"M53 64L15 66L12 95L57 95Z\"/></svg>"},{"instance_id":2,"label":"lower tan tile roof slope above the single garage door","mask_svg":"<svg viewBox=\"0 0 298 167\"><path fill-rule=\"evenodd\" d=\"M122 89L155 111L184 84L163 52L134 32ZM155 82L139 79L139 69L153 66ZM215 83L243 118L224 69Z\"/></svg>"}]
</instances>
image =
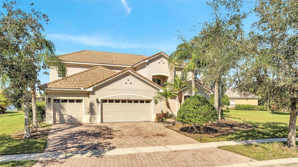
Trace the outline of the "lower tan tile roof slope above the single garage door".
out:
<instances>
[{"instance_id":1,"label":"lower tan tile roof slope above the single garage door","mask_svg":"<svg viewBox=\"0 0 298 167\"><path fill-rule=\"evenodd\" d=\"M115 73L116 72L114 70L110 70L102 66L95 66L80 73L46 83L42 86L46 88L81 89Z\"/></svg>"}]
</instances>

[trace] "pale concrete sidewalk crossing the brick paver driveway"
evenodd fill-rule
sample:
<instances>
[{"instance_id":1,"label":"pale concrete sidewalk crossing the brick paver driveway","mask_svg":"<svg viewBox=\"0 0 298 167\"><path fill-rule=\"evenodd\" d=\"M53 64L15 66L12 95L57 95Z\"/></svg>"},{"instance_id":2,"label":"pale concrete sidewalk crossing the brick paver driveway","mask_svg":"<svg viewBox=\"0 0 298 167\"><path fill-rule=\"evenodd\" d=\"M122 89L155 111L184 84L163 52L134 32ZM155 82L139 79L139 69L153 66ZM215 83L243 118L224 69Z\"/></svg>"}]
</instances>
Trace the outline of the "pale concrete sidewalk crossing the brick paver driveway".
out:
<instances>
[{"instance_id":1,"label":"pale concrete sidewalk crossing the brick paver driveway","mask_svg":"<svg viewBox=\"0 0 298 167\"><path fill-rule=\"evenodd\" d=\"M298 138L296 138L298 140ZM87 150L87 151L72 151L72 152L44 152L35 154L20 154L20 155L3 155L0 156L1 161L11 160L45 160L45 159L65 159L73 157L92 157L92 156L105 156L105 155L124 155L136 154L145 152L163 152L163 151L176 151L188 149L202 149L212 148L218 146L238 145L238 144L256 144L266 142L280 142L287 141L287 138L267 138L255 140L241 140L241 141L219 141L198 144L181 144L169 146L150 146L150 147L132 147L120 149L101 149L101 150Z\"/></svg>"}]
</instances>

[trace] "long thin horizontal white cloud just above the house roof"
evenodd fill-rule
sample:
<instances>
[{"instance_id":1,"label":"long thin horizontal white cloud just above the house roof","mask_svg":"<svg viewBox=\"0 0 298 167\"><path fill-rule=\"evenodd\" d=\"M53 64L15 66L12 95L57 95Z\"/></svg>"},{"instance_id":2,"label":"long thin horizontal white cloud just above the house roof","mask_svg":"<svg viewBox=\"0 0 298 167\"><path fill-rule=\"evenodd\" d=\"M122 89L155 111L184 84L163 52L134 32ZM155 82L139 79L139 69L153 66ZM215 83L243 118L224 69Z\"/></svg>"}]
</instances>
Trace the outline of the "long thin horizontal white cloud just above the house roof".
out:
<instances>
[{"instance_id":1,"label":"long thin horizontal white cloud just above the house roof","mask_svg":"<svg viewBox=\"0 0 298 167\"><path fill-rule=\"evenodd\" d=\"M110 48L149 48L160 51L173 51L176 48L175 44L167 44L167 42L130 42L121 37L111 37L108 35L69 35L69 34L47 34L50 40L76 42L88 46L110 47Z\"/></svg>"}]
</instances>

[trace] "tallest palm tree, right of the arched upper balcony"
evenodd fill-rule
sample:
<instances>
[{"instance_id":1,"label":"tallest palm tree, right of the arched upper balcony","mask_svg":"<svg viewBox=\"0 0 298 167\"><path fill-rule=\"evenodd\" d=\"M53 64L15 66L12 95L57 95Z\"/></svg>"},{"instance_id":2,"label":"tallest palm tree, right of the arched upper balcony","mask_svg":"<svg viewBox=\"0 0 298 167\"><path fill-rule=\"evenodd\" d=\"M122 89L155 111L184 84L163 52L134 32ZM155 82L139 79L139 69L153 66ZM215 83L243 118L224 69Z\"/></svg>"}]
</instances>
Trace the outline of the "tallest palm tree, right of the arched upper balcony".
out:
<instances>
[{"instance_id":1,"label":"tallest palm tree, right of the arched upper balcony","mask_svg":"<svg viewBox=\"0 0 298 167\"><path fill-rule=\"evenodd\" d=\"M195 71L198 70L202 65L200 58L201 54L195 51L194 46L191 45L190 42L184 42L177 46L176 51L170 54L168 59L168 67L170 71L174 70L175 65L185 63L183 72L192 72L192 95L195 94Z\"/></svg>"}]
</instances>

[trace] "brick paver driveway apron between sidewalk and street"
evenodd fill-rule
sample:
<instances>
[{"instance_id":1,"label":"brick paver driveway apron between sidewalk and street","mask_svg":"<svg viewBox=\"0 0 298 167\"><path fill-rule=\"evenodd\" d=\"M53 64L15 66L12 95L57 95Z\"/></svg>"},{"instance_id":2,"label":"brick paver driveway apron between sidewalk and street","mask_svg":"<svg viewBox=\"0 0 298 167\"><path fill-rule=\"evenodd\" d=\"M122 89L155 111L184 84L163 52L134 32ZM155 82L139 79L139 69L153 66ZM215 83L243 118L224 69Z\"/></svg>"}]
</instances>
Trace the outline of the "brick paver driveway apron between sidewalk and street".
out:
<instances>
[{"instance_id":1,"label":"brick paver driveway apron between sidewalk and street","mask_svg":"<svg viewBox=\"0 0 298 167\"><path fill-rule=\"evenodd\" d=\"M41 160L32 167L219 166L255 161L218 148Z\"/></svg>"}]
</instances>

